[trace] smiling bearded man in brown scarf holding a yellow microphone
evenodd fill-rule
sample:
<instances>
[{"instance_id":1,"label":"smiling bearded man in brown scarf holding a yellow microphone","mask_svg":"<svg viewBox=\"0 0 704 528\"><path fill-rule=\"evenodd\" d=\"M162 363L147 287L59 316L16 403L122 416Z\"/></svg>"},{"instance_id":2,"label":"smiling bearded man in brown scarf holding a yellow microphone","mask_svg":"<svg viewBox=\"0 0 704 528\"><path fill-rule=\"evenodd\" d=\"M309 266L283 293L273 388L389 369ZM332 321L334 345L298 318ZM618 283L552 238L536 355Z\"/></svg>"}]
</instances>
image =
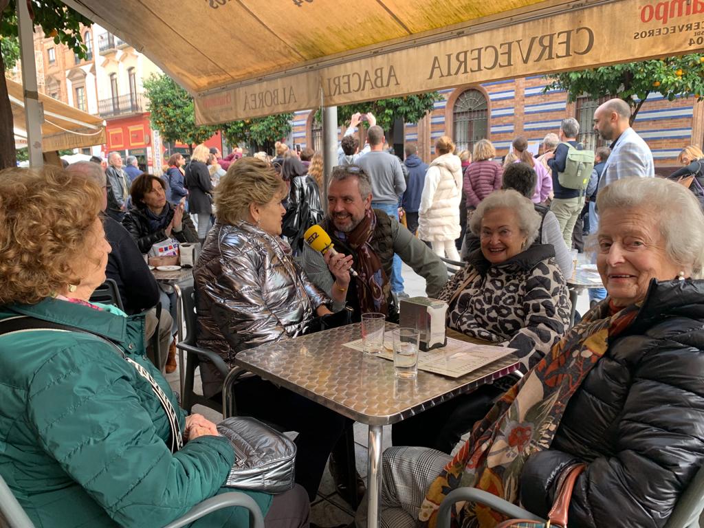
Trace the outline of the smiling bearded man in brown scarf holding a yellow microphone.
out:
<instances>
[{"instance_id":1,"label":"smiling bearded man in brown scarf holding a yellow microphone","mask_svg":"<svg viewBox=\"0 0 704 528\"><path fill-rule=\"evenodd\" d=\"M398 322L390 282L394 253L426 279L427 296L439 294L447 282L444 263L398 220L372 209L372 186L364 170L358 165L335 167L327 197L327 216L306 232L306 239L325 232L334 251L329 251L329 244L313 244L325 249L322 255L304 244L303 269L335 301L346 301L353 321L359 321L362 313L377 312Z\"/></svg>"}]
</instances>

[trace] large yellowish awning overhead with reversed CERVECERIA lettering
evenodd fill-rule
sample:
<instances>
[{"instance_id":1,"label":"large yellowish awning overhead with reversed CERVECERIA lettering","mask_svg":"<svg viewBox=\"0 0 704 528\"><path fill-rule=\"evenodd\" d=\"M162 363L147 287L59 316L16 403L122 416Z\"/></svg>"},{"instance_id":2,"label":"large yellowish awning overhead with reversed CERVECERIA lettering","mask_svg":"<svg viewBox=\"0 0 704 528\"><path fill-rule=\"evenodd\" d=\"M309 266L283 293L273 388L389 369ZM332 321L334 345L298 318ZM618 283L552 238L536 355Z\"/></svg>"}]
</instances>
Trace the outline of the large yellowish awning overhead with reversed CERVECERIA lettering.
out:
<instances>
[{"instance_id":1,"label":"large yellowish awning overhead with reversed CERVECERIA lettering","mask_svg":"<svg viewBox=\"0 0 704 528\"><path fill-rule=\"evenodd\" d=\"M704 0L64 0L217 123L700 50Z\"/></svg>"}]
</instances>

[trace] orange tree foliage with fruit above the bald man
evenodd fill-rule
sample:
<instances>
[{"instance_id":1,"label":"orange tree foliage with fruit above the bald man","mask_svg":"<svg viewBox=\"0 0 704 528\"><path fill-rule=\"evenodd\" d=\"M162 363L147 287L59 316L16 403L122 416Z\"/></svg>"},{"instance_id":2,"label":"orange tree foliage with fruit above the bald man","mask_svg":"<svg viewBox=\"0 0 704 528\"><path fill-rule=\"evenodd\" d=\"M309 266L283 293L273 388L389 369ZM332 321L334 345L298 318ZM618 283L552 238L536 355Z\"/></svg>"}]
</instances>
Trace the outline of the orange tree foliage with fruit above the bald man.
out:
<instances>
[{"instance_id":1,"label":"orange tree foliage with fruit above the bald man","mask_svg":"<svg viewBox=\"0 0 704 528\"><path fill-rule=\"evenodd\" d=\"M689 54L556 73L548 80L551 83L543 91L563 89L570 102L583 94L595 100L620 97L631 107L632 125L648 94L662 94L669 101L689 96L701 101L704 95L704 55Z\"/></svg>"}]
</instances>

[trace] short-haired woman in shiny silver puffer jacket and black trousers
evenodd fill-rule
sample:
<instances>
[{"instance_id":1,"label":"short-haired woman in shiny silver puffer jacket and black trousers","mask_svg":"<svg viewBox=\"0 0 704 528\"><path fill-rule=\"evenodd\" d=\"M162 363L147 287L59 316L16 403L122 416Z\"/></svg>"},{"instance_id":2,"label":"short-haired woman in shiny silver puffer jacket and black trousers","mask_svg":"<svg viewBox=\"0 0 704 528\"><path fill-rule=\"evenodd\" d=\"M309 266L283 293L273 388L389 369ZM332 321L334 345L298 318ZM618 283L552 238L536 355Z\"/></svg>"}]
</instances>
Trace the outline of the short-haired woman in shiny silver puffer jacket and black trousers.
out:
<instances>
[{"instance_id":1,"label":"short-haired woman in shiny silver puffer jacket and black trousers","mask_svg":"<svg viewBox=\"0 0 704 528\"><path fill-rule=\"evenodd\" d=\"M239 351L305 334L316 316L332 313L328 306L344 308L308 280L281 239L286 194L283 180L256 158L232 165L215 189L218 222L194 268L197 342L231 367ZM220 372L204 362L201 377L203 394L220 400ZM258 376L239 379L232 391L241 415L298 432L296 482L313 501L350 421Z\"/></svg>"}]
</instances>

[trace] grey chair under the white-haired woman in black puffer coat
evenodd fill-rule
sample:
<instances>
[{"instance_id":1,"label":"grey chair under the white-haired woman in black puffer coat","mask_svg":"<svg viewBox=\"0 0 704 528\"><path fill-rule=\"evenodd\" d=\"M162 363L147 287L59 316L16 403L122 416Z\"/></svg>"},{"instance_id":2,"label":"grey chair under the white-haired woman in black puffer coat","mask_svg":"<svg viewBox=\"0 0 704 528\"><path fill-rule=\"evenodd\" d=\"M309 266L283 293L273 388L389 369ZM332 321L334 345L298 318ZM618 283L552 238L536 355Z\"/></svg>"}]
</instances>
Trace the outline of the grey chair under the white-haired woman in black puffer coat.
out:
<instances>
[{"instance_id":1,"label":"grey chair under the white-haired woman in black puffer coat","mask_svg":"<svg viewBox=\"0 0 704 528\"><path fill-rule=\"evenodd\" d=\"M503 513L512 519L530 519L541 522L546 520L533 515L513 503L504 501L496 495L475 488L458 488L448 494L440 504L438 511L438 528L450 528L450 513L452 506L460 501L482 503L492 510ZM699 517L704 511L704 466L700 467L684 494L674 505L672 515L667 520L665 528L700 528Z\"/></svg>"}]
</instances>

